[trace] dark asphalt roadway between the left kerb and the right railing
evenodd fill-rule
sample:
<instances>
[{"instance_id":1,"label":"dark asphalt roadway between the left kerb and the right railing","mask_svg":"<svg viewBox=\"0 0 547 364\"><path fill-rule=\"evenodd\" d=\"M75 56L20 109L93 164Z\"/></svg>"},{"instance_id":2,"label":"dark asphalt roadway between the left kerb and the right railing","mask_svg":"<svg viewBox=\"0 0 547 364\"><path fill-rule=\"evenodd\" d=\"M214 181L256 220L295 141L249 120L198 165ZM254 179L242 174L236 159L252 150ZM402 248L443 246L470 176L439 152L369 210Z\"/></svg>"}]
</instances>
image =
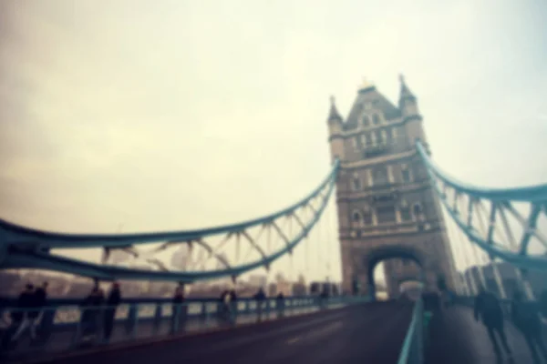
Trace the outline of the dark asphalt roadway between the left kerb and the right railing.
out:
<instances>
[{"instance_id":1,"label":"dark asphalt roadway between the left kerb and the right railing","mask_svg":"<svg viewBox=\"0 0 547 364\"><path fill-rule=\"evenodd\" d=\"M411 306L398 303L370 303L321 315L52 362L396 363L411 310Z\"/></svg>"}]
</instances>

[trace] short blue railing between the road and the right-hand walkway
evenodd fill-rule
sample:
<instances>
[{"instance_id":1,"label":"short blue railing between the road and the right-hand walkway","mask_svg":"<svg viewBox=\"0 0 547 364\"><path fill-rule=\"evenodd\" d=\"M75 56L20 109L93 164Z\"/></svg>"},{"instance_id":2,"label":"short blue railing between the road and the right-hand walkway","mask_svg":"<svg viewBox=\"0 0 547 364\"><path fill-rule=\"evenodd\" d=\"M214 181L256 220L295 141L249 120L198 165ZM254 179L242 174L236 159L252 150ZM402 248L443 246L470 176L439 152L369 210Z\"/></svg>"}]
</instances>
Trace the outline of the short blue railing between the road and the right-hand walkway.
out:
<instances>
[{"instance_id":1,"label":"short blue railing between the road and the right-hand walkway","mask_svg":"<svg viewBox=\"0 0 547 364\"><path fill-rule=\"evenodd\" d=\"M424 361L424 303L419 298L412 311L412 320L408 327L403 348L397 364L421 364Z\"/></svg>"}]
</instances>

